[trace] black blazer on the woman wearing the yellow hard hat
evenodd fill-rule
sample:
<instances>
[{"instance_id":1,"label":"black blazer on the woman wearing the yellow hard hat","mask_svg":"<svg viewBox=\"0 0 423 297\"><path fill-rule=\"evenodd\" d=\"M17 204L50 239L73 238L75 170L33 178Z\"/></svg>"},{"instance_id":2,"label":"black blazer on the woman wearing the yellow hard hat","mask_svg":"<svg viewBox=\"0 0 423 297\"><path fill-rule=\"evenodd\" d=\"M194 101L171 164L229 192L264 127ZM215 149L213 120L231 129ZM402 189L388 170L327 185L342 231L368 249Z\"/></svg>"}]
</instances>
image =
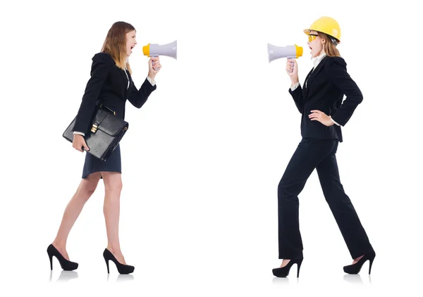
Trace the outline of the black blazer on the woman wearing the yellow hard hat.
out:
<instances>
[{"instance_id":1,"label":"black blazer on the woman wearing the yellow hard hat","mask_svg":"<svg viewBox=\"0 0 423 297\"><path fill-rule=\"evenodd\" d=\"M303 138L338 139L343 141L341 127L334 124L326 127L317 120L310 120L310 110L321 110L341 126L350 120L355 108L363 100L362 92L347 72L347 63L341 57L325 56L305 81L307 87L289 89L301 117ZM343 101L343 95L346 98Z\"/></svg>"}]
</instances>

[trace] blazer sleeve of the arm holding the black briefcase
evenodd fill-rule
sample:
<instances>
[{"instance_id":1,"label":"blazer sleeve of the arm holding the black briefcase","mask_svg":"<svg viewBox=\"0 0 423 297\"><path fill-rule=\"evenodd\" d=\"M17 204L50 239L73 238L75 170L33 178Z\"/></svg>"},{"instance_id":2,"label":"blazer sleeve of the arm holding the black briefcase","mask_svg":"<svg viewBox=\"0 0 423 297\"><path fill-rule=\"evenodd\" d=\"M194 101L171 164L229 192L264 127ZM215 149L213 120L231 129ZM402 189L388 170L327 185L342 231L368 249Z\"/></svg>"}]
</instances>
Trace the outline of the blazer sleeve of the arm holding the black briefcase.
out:
<instances>
[{"instance_id":1,"label":"blazer sleeve of the arm holding the black briefcase","mask_svg":"<svg viewBox=\"0 0 423 297\"><path fill-rule=\"evenodd\" d=\"M86 133L89 130L97 99L99 99L112 63L113 59L107 53L96 53L92 57L91 77L85 87L73 131Z\"/></svg>"}]
</instances>

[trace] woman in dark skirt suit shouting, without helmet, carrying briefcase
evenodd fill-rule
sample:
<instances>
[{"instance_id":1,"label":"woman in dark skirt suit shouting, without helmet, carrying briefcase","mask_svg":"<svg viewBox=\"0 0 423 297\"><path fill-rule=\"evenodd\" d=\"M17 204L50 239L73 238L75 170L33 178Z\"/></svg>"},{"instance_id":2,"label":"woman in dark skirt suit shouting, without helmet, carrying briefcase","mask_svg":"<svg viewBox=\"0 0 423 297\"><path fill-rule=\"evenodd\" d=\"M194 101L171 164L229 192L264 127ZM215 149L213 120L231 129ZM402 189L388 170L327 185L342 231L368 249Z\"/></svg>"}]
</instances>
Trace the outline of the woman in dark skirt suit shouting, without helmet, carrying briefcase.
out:
<instances>
[{"instance_id":1,"label":"woman in dark skirt suit shouting, without helmet, carrying briefcase","mask_svg":"<svg viewBox=\"0 0 423 297\"><path fill-rule=\"evenodd\" d=\"M78 151L90 151L84 136L91 129L92 116L99 108L99 104L114 110L116 116L124 119L127 99L136 108L141 108L152 91L157 88L154 77L161 68L158 57L150 58L148 76L140 89L135 87L131 78L132 71L128 57L137 44L135 34L136 31L132 25L125 22L114 23L106 36L102 51L92 58L91 78L87 82L73 129L73 148ZM53 256L59 260L63 270L78 268L78 263L69 260L66 252L66 240L85 202L94 193L99 179L103 179L105 187L103 210L108 239L103 255L106 260L107 272L109 273L109 260L116 264L119 273L133 272L134 267L125 263L118 236L119 200L122 189L121 172L119 145L106 161L99 160L90 153L85 154L80 186L66 207L56 239L47 248L51 270L53 269Z\"/></svg>"}]
</instances>

